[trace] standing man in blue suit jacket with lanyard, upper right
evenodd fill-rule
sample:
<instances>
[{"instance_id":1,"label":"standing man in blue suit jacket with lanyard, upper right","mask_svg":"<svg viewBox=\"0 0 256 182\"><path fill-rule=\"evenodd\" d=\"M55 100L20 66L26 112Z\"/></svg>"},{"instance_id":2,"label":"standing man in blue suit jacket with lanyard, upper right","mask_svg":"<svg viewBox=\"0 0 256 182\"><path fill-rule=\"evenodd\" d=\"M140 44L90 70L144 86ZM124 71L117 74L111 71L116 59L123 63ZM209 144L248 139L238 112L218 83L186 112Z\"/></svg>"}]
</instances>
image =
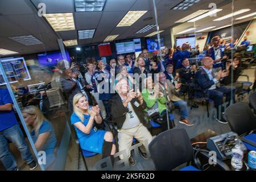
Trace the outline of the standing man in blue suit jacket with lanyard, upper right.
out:
<instances>
[{"instance_id":1,"label":"standing man in blue suit jacket with lanyard, upper right","mask_svg":"<svg viewBox=\"0 0 256 182\"><path fill-rule=\"evenodd\" d=\"M212 44L213 44L213 47L208 49L207 56L212 57L214 61L213 68L219 68L219 67L224 68L224 64L225 64L224 60L226 60L228 57L225 55L224 51L221 49L220 37L214 36L214 38L212 38Z\"/></svg>"}]
</instances>

